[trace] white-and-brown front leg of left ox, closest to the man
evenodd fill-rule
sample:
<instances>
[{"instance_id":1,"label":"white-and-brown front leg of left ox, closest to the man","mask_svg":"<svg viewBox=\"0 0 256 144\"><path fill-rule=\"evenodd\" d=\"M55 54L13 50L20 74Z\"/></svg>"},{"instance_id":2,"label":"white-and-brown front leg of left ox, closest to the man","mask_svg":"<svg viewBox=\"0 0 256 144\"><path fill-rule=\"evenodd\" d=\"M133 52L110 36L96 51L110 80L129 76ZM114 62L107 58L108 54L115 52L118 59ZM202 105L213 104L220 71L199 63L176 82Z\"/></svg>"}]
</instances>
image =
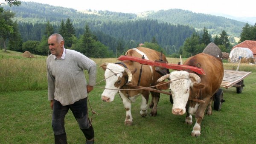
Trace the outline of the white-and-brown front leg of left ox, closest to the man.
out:
<instances>
[{"instance_id":1,"label":"white-and-brown front leg of left ox, closest to the man","mask_svg":"<svg viewBox=\"0 0 256 144\"><path fill-rule=\"evenodd\" d=\"M132 125L131 101L123 93L119 94L126 110L125 125Z\"/></svg>"}]
</instances>

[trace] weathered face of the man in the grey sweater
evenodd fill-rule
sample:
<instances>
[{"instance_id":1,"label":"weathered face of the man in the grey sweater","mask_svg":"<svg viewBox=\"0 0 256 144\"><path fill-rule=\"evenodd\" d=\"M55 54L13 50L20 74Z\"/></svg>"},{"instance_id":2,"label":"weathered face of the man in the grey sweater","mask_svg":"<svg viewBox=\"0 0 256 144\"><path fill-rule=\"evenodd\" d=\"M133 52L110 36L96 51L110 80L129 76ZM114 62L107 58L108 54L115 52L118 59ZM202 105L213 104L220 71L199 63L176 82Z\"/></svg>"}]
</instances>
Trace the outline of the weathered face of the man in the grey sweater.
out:
<instances>
[{"instance_id":1,"label":"weathered face of the man in the grey sweater","mask_svg":"<svg viewBox=\"0 0 256 144\"><path fill-rule=\"evenodd\" d=\"M56 36L51 36L48 39L48 45L49 45L49 50L51 51L52 55L55 55L56 57L61 57L62 50L64 47L64 41L61 41L59 43L57 41Z\"/></svg>"}]
</instances>

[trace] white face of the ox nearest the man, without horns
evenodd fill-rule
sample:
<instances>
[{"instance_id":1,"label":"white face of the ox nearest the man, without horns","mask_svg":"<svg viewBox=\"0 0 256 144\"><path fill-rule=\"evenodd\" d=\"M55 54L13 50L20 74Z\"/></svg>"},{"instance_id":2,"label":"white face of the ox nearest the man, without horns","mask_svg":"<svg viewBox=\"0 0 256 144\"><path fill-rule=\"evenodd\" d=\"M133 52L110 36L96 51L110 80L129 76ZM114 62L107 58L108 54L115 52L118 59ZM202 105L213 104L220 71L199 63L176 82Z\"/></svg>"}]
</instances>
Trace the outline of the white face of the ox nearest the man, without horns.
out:
<instances>
[{"instance_id":1,"label":"white face of the ox nearest the man, without horns","mask_svg":"<svg viewBox=\"0 0 256 144\"><path fill-rule=\"evenodd\" d=\"M122 79L124 70L125 68L120 65L116 65L113 63L109 63L107 65L107 68L104 74L106 79L106 86L105 86L106 89L102 93L103 101L112 102L114 100L115 95L118 92L118 90L116 89L119 89L122 86L121 83L123 82L121 82L121 79ZM115 89L115 90L108 90L108 89Z\"/></svg>"}]
</instances>

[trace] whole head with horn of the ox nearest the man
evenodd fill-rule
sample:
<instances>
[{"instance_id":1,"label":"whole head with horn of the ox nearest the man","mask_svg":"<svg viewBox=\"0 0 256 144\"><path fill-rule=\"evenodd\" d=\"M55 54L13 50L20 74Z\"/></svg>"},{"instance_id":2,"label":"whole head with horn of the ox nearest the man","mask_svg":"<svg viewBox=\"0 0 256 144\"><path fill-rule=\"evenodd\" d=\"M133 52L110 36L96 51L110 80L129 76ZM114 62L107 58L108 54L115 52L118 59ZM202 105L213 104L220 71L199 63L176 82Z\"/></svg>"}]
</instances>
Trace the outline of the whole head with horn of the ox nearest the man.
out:
<instances>
[{"instance_id":1,"label":"whole head with horn of the ox nearest the man","mask_svg":"<svg viewBox=\"0 0 256 144\"><path fill-rule=\"evenodd\" d=\"M113 63L104 63L101 65L105 70L106 86L102 93L102 100L105 102L112 102L116 93L123 85L131 82L132 72L128 68Z\"/></svg>"}]
</instances>

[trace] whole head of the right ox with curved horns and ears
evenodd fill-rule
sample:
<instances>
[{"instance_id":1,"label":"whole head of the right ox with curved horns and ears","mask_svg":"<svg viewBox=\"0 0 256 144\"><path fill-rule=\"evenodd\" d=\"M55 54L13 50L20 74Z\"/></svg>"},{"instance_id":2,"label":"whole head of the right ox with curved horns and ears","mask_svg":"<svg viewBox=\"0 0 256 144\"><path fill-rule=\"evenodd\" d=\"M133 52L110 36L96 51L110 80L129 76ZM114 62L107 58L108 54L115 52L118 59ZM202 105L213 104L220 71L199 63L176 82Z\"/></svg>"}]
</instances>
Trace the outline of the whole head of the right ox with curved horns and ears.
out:
<instances>
[{"instance_id":1,"label":"whole head of the right ox with curved horns and ears","mask_svg":"<svg viewBox=\"0 0 256 144\"><path fill-rule=\"evenodd\" d=\"M165 79L170 79L171 82L162 82ZM200 83L201 79L198 75L186 71L173 71L159 78L157 82L160 82L157 85L158 89L169 88L171 90L173 99L172 113L175 115L183 115L186 112L190 88L204 88L204 84Z\"/></svg>"}]
</instances>

